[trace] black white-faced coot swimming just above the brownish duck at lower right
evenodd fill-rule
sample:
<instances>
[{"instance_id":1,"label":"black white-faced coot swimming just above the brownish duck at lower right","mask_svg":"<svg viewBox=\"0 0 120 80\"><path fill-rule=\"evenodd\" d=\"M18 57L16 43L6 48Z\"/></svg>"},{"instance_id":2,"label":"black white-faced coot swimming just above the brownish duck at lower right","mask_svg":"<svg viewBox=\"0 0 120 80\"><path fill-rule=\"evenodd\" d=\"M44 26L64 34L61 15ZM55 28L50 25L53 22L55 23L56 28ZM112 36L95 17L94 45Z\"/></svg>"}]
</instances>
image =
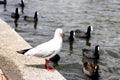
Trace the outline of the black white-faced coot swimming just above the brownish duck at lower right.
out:
<instances>
[{"instance_id":1,"label":"black white-faced coot swimming just above the brownish duck at lower right","mask_svg":"<svg viewBox=\"0 0 120 80\"><path fill-rule=\"evenodd\" d=\"M95 46L95 50L84 48L82 50L83 56L90 59L99 59L99 45Z\"/></svg>"}]
</instances>

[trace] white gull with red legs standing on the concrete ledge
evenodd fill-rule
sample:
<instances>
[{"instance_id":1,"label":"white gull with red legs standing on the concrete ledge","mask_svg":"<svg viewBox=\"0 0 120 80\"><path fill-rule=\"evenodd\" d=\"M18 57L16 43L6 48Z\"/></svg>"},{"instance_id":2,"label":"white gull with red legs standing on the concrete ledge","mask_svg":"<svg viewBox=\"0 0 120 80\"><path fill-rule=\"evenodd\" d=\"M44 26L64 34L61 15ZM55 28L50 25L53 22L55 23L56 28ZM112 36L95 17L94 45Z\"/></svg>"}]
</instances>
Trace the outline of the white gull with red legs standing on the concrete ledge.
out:
<instances>
[{"instance_id":1,"label":"white gull with red legs standing on the concrete ledge","mask_svg":"<svg viewBox=\"0 0 120 80\"><path fill-rule=\"evenodd\" d=\"M61 50L63 43L62 36L63 31L61 28L58 28L55 30L53 39L49 40L48 42L42 43L31 49L26 49L17 52L27 56L37 56L46 58L45 68L47 70L52 70L52 68L49 66L49 59L55 56Z\"/></svg>"}]
</instances>

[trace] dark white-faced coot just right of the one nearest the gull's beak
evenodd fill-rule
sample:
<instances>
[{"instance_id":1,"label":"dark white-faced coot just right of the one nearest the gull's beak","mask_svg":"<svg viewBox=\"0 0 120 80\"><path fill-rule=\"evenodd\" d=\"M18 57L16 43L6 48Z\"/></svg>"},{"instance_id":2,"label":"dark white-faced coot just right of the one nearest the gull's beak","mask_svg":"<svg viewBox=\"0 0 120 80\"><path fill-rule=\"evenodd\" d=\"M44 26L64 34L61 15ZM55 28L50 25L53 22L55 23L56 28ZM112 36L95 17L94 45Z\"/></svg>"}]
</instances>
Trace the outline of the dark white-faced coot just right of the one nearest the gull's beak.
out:
<instances>
[{"instance_id":1,"label":"dark white-faced coot just right of the one nearest the gull's beak","mask_svg":"<svg viewBox=\"0 0 120 80\"><path fill-rule=\"evenodd\" d=\"M78 38L90 38L91 31L93 31L92 26L88 26L87 32L81 31L80 29L75 30L75 36Z\"/></svg>"}]
</instances>

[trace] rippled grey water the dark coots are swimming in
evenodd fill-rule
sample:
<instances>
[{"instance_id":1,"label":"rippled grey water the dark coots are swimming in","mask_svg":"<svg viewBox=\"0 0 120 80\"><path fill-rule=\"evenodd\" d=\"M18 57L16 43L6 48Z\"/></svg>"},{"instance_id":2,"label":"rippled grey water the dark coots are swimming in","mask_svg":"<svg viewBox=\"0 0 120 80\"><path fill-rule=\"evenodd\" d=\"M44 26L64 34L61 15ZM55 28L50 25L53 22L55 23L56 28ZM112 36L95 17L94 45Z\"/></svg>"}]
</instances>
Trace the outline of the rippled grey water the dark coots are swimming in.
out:
<instances>
[{"instance_id":1,"label":"rippled grey water the dark coots are swimming in","mask_svg":"<svg viewBox=\"0 0 120 80\"><path fill-rule=\"evenodd\" d=\"M0 5L0 17L15 28L10 14L19 0L9 0L6 8ZM48 41L58 27L69 34L70 30L86 30L94 27L90 40L91 47L100 45L99 80L120 79L120 0L28 0L24 13L18 21L17 32L32 46ZM24 15L39 12L37 29L34 23L25 22ZM2 26L1 26L2 27ZM63 43L58 71L67 80L89 80L82 72L82 48L86 41L75 38L73 51L69 43Z\"/></svg>"}]
</instances>

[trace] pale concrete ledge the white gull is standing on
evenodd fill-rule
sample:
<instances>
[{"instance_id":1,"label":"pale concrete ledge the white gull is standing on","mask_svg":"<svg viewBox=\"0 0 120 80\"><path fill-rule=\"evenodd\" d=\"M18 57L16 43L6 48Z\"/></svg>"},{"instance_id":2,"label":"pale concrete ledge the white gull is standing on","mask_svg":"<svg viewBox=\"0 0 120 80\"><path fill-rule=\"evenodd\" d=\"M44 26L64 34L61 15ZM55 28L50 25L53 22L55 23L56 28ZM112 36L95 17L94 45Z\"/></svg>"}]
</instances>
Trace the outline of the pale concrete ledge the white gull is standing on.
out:
<instances>
[{"instance_id":1,"label":"pale concrete ledge the white gull is standing on","mask_svg":"<svg viewBox=\"0 0 120 80\"><path fill-rule=\"evenodd\" d=\"M16 52L27 48L31 46L0 19L0 68L9 80L66 80L57 70L44 69L43 58Z\"/></svg>"}]
</instances>

